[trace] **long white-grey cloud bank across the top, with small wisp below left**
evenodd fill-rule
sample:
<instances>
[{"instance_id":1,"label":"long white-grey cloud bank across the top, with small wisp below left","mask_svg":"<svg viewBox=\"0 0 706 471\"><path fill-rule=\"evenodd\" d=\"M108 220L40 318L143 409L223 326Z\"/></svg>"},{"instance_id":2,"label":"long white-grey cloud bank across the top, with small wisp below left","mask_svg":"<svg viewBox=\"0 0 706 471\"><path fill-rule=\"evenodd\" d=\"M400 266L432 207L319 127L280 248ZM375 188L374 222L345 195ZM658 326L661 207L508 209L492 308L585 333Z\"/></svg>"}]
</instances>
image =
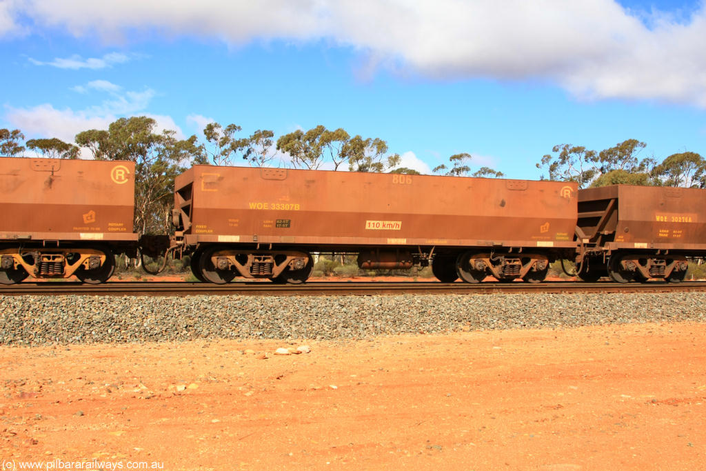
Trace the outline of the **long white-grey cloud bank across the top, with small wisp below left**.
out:
<instances>
[{"instance_id":1,"label":"long white-grey cloud bank across the top, with small wisp below left","mask_svg":"<svg viewBox=\"0 0 706 471\"><path fill-rule=\"evenodd\" d=\"M134 40L140 30L228 44L327 39L366 54L373 71L393 64L441 79L540 79L578 97L706 107L704 4L662 13L615 0L66 0L61 8L55 0L7 1L0 33L20 28L21 14L35 28L106 41L127 32ZM41 64L100 68L128 59Z\"/></svg>"}]
</instances>

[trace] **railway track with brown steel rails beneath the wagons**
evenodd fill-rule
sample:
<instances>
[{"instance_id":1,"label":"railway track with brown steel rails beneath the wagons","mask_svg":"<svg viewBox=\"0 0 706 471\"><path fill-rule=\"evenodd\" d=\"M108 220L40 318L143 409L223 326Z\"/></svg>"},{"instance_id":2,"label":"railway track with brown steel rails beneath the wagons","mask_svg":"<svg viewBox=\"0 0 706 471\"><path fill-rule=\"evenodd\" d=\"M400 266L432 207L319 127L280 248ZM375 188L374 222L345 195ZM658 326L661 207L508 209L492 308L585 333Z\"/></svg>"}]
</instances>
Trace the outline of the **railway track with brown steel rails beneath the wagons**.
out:
<instances>
[{"instance_id":1,"label":"railway track with brown steel rails beneath the wagons","mask_svg":"<svg viewBox=\"0 0 706 471\"><path fill-rule=\"evenodd\" d=\"M86 285L77 282L23 282L0 286L0 295L66 295L88 296L326 296L372 294L510 294L510 293L635 293L635 292L702 292L706 282L682 283L582 283L573 281L544 283L482 282L309 282L305 285L274 285L271 282L237 282L227 285L191 282L108 282Z\"/></svg>"}]
</instances>

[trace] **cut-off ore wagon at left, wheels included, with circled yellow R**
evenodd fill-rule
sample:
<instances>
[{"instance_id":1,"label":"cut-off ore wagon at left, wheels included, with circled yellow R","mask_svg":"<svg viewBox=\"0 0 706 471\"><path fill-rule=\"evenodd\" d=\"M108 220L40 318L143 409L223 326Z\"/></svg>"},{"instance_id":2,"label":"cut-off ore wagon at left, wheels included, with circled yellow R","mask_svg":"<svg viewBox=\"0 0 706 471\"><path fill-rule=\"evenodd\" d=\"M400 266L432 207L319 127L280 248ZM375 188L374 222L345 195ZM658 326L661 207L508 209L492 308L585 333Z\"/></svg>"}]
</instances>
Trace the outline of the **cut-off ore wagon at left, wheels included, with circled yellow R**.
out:
<instances>
[{"instance_id":1,"label":"cut-off ore wagon at left, wheels included, with circled yellow R","mask_svg":"<svg viewBox=\"0 0 706 471\"><path fill-rule=\"evenodd\" d=\"M135 255L132 162L0 158L0 283L100 283L114 253Z\"/></svg>"}]
</instances>

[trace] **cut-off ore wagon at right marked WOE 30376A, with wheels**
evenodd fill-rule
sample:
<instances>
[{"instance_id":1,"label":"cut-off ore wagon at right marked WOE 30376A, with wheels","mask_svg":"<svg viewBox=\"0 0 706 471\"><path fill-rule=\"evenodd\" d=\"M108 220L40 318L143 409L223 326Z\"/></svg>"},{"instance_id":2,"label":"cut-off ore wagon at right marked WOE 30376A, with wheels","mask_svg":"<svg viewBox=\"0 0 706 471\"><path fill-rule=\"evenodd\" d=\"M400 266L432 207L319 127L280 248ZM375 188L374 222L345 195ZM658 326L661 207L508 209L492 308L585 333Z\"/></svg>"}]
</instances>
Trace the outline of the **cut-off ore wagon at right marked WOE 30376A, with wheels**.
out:
<instances>
[{"instance_id":1,"label":"cut-off ore wagon at right marked WOE 30376A, with wheels","mask_svg":"<svg viewBox=\"0 0 706 471\"><path fill-rule=\"evenodd\" d=\"M706 255L706 190L614 185L580 190L576 261L582 280L684 279Z\"/></svg>"}]
</instances>

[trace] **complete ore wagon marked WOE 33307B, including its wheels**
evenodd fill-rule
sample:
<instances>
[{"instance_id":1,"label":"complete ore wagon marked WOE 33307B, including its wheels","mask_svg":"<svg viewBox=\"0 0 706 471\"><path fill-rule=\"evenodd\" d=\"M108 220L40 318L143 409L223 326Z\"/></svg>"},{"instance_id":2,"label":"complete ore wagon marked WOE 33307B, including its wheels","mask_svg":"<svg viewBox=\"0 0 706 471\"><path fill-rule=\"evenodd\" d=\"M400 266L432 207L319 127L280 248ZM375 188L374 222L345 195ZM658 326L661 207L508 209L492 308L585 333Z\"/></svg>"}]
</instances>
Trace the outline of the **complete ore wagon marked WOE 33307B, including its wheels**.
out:
<instances>
[{"instance_id":1,"label":"complete ore wagon marked WOE 33307B, including its wheels","mask_svg":"<svg viewBox=\"0 0 706 471\"><path fill-rule=\"evenodd\" d=\"M304 282L312 253L427 266L444 282L544 279L574 258L574 183L196 165L176 179L177 254L201 280Z\"/></svg>"}]
</instances>

